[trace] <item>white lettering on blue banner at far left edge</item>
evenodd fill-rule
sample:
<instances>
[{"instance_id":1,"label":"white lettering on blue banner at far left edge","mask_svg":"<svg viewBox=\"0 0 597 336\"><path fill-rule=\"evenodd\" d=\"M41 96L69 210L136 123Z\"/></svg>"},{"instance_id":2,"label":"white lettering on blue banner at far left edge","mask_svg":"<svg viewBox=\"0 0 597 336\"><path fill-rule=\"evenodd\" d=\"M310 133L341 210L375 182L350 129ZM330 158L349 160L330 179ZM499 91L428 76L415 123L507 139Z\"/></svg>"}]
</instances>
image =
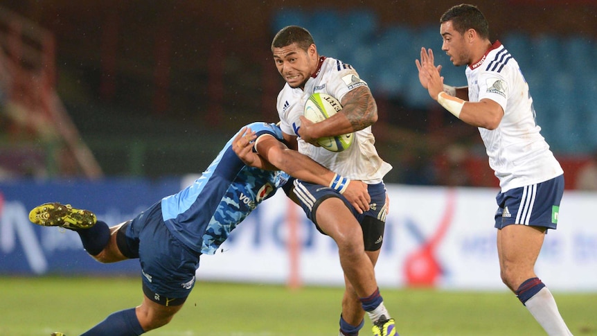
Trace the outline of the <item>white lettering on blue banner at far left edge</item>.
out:
<instances>
[{"instance_id":1,"label":"white lettering on blue banner at far left edge","mask_svg":"<svg viewBox=\"0 0 597 336\"><path fill-rule=\"evenodd\" d=\"M48 262L28 218L21 202L4 202L0 209L0 247L4 253L10 253L18 237L31 269L42 274L48 269Z\"/></svg>"}]
</instances>

